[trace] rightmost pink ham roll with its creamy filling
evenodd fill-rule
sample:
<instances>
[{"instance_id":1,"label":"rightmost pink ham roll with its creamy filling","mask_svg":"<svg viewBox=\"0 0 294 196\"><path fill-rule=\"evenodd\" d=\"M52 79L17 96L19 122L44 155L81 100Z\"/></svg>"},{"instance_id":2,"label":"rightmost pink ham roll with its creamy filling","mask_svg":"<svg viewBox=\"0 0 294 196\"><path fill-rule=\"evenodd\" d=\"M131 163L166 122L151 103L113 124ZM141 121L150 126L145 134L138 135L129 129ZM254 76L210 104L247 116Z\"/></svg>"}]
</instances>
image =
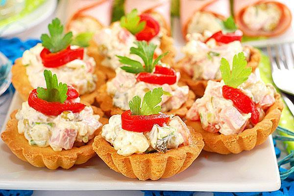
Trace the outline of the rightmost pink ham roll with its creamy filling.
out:
<instances>
[{"instance_id":1,"label":"rightmost pink ham roll with its creamy filling","mask_svg":"<svg viewBox=\"0 0 294 196\"><path fill-rule=\"evenodd\" d=\"M234 15L238 27L250 37L280 35L292 21L289 8L274 0L234 0Z\"/></svg>"}]
</instances>

